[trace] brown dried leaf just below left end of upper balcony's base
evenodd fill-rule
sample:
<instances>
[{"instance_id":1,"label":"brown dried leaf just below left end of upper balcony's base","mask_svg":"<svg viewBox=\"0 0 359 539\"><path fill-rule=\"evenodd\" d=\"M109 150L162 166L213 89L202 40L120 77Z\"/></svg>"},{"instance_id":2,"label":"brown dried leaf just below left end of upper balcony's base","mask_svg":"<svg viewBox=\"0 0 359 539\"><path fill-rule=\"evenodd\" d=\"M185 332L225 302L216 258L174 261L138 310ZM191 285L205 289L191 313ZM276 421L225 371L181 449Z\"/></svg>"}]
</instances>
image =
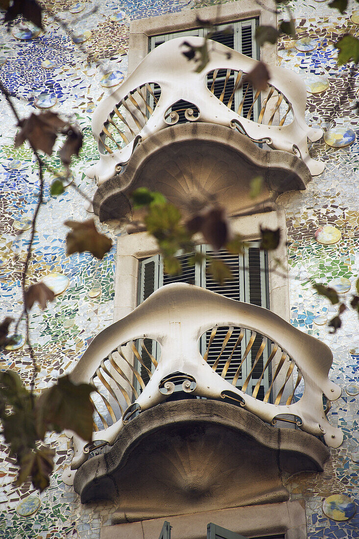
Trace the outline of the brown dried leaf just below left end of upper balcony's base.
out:
<instances>
[{"instance_id":1,"label":"brown dried leaf just below left end of upper balcony's base","mask_svg":"<svg viewBox=\"0 0 359 539\"><path fill-rule=\"evenodd\" d=\"M83 253L89 251L94 257L102 258L112 247L112 241L105 234L96 230L93 219L84 222L65 221L65 225L72 229L66 236L66 254Z\"/></svg>"}]
</instances>

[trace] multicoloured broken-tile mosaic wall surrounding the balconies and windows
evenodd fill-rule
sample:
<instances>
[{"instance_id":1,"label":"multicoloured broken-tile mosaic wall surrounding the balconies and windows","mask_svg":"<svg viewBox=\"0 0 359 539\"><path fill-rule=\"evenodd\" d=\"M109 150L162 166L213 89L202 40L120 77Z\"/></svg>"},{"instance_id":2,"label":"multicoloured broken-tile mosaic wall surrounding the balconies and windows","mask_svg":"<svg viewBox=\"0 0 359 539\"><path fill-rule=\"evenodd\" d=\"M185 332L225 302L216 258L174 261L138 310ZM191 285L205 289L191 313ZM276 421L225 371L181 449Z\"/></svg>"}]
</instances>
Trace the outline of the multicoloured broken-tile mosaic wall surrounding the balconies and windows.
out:
<instances>
[{"instance_id":1,"label":"multicoloured broken-tile mosaic wall surrounding the balconies and windows","mask_svg":"<svg viewBox=\"0 0 359 539\"><path fill-rule=\"evenodd\" d=\"M123 80L127 72L129 22L135 18L195 9L218 2L210 0L125 0L102 2L70 0L47 2L52 11L73 31L75 45L51 17L46 31L17 26L12 33L1 28L0 77L14 96L19 115L29 116L35 107L68 114L85 135L80 158L74 162L75 181L91 197L95 190L84 171L96 157L91 135L91 114L103 96ZM353 3L354 4L354 3ZM326 161L326 169L304 192L282 195L288 226L288 257L292 323L313 334L333 350L332 380L343 388L332 404L330 421L344 432L344 442L332 450L323 474L300 474L288 479L292 499L306 500L308 537L354 539L359 536L355 514L359 469L359 331L353 312L343 315L344 328L329 334L325 326L335 308L313 295L310 279L339 282L343 294L354 291L359 269L358 168L359 131L355 102L359 84L350 65L338 67L334 43L339 34L359 33L359 16L348 8L337 16L325 2L290 2L298 37L283 38L279 64L300 73L308 89L307 121L327 131L325 140L313 144L314 158ZM87 61L91 55L101 61ZM0 268L2 317L22 309L20 274L31 218L38 194L36 163L25 147L13 148L16 133L13 118L0 97L3 127L0 149ZM47 158L60 170L56 156ZM83 199L71 187L51 197L46 177L45 204L34 241L30 275L50 275L57 284L56 302L44 312L32 311L32 342L41 372L38 388L72 370L89 340L112 321L114 249L103 261L90 255L65 255L64 220L85 219ZM320 243L326 225L339 232L335 243ZM102 226L106 230L106 226ZM330 229L329 229L330 232ZM333 230L332 230L333 232ZM334 231L335 232L335 231ZM111 232L108 231L111 234ZM55 274L55 275L54 275ZM338 285L338 282L336 285ZM20 326L20 333L24 328ZM22 343L19 342L19 346ZM2 354L2 367L14 369L29 382L31 361L26 348ZM49 439L57 449L51 486L29 500L32 489L12 486L16 469L2 446L0 459L0 537L2 539L55 539L64 537L98 539L102 524L111 522L115 506L82 506L72 487L61 481L68 462L70 441L63 434ZM333 495L341 495L334 497ZM343 497L344 496L344 497ZM323 503L324 501L324 503ZM28 516L24 516L28 515Z\"/></svg>"}]
</instances>

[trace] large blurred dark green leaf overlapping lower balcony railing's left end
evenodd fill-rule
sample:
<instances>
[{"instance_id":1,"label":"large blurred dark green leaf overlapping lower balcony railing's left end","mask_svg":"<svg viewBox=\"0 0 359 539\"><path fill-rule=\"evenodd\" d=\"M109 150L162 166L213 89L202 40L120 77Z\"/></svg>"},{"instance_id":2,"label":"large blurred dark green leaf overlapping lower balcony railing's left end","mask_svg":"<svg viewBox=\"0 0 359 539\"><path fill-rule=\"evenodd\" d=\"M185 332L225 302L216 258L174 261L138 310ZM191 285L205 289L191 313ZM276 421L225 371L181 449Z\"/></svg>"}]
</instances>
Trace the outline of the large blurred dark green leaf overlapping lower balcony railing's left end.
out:
<instances>
[{"instance_id":1,"label":"large blurred dark green leaf overlapping lower balcony railing's left end","mask_svg":"<svg viewBox=\"0 0 359 539\"><path fill-rule=\"evenodd\" d=\"M55 385L43 391L36 404L39 436L43 438L49 430L68 429L91 441L93 405L89 396L92 391L92 385L73 384L68 376L59 378Z\"/></svg>"}]
</instances>

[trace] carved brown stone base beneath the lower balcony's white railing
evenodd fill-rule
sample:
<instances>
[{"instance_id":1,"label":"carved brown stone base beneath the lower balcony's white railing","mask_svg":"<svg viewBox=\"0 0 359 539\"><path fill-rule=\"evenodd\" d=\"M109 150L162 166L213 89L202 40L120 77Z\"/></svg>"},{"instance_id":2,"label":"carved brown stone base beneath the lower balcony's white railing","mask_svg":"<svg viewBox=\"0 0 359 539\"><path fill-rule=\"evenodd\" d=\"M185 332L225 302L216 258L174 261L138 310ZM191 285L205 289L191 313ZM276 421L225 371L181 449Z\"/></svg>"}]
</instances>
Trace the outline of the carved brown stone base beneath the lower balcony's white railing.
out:
<instances>
[{"instance_id":1,"label":"carved brown stone base beneath the lower balcony's white railing","mask_svg":"<svg viewBox=\"0 0 359 539\"><path fill-rule=\"evenodd\" d=\"M112 500L129 520L288 500L282 473L319 472L320 440L216 400L167 402L125 425L75 474L81 501ZM132 515L132 516L131 516Z\"/></svg>"}]
</instances>

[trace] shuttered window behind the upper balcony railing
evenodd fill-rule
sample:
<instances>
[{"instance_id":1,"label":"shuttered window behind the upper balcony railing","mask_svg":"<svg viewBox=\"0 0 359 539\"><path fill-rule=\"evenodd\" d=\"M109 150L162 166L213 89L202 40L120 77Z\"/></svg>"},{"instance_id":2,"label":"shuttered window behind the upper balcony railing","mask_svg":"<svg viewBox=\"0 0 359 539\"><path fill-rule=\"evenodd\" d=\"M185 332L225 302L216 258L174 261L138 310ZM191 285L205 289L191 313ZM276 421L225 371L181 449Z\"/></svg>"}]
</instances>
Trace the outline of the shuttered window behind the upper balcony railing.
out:
<instances>
[{"instance_id":1,"label":"shuttered window behind the upper balcony railing","mask_svg":"<svg viewBox=\"0 0 359 539\"><path fill-rule=\"evenodd\" d=\"M258 24L258 19L241 20L231 24L220 24L216 26L216 33L211 36L213 41L222 43L230 49L241 52L246 56L250 56L256 60L259 59L259 50L256 42L253 39L254 32ZM228 26L233 28L233 33L223 33L223 30ZM158 45L167 42L170 39L177 37L199 36L205 37L209 33L209 29L198 28L194 30L186 30L183 32L173 32L162 34L162 36L153 36L149 38L149 51L155 49ZM243 116L249 114L251 120L257 120L260 111L260 100L258 99L253 106L253 88L252 85L245 83L243 87L237 88L239 85L238 72L233 70L218 70L210 72L207 79L208 88L216 95L218 99L223 101L225 105L232 110L240 111ZM161 89L158 85L153 86L154 96L156 99L161 94ZM151 105L152 106L152 105ZM191 108L192 103L187 101L178 101L172 106L172 111L179 115L178 123L184 123L187 119L184 116L184 110Z\"/></svg>"}]
</instances>

